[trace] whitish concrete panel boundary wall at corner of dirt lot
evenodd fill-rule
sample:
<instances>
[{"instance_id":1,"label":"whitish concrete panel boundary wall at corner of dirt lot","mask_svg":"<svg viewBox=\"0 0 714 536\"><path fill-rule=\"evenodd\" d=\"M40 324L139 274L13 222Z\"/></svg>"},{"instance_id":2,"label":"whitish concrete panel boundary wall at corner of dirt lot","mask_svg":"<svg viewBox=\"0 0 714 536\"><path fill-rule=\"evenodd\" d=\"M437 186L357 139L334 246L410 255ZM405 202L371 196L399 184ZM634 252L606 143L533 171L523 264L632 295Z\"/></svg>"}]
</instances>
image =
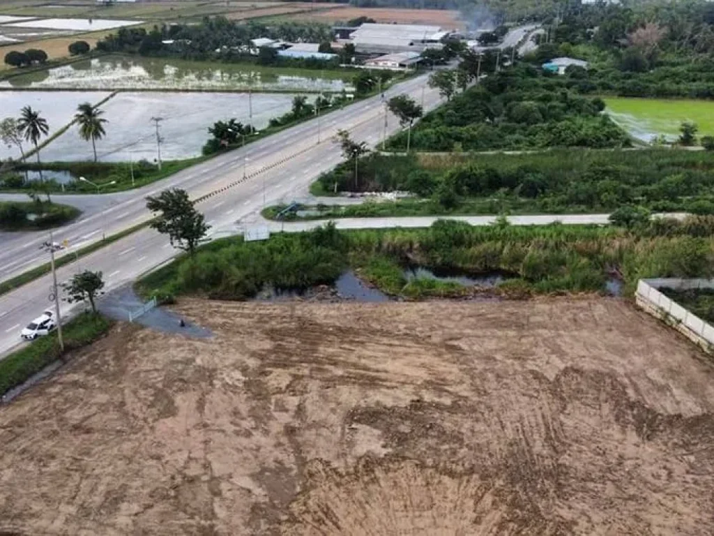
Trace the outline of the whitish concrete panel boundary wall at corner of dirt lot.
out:
<instances>
[{"instance_id":1,"label":"whitish concrete panel boundary wall at corner of dirt lot","mask_svg":"<svg viewBox=\"0 0 714 536\"><path fill-rule=\"evenodd\" d=\"M713 289L714 279L640 279L635 293L639 307L657 317L709 354L714 354L714 327L677 302L666 297L659 288L675 290Z\"/></svg>"}]
</instances>

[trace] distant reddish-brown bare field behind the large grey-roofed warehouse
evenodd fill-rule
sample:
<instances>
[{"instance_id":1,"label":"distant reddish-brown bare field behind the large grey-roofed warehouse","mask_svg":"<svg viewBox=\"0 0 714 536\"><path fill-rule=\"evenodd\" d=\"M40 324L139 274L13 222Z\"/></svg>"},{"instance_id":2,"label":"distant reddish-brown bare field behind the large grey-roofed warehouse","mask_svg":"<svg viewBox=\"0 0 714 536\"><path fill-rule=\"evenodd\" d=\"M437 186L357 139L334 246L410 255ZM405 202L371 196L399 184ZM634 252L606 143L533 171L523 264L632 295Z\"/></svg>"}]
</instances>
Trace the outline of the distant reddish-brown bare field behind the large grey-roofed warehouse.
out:
<instances>
[{"instance_id":1,"label":"distant reddish-brown bare field behind the large grey-roofed warehouse","mask_svg":"<svg viewBox=\"0 0 714 536\"><path fill-rule=\"evenodd\" d=\"M458 20L458 11L446 11L445 9L387 9L387 8L357 8L346 7L341 9L331 9L311 14L310 19L326 22L348 21L356 19L358 16L368 16L377 22L391 24L429 24L442 26L446 29L463 28L464 23ZM296 15L295 19L305 19L306 15Z\"/></svg>"}]
</instances>

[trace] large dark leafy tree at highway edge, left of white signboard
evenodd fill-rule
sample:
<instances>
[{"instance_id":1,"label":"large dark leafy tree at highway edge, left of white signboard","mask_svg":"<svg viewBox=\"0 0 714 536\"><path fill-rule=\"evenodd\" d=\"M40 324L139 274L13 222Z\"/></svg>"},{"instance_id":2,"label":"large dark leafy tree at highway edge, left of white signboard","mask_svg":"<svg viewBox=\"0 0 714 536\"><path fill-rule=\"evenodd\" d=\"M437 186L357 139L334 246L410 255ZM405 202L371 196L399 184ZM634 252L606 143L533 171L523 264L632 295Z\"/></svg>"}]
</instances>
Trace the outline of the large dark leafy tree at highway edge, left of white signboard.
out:
<instances>
[{"instance_id":1,"label":"large dark leafy tree at highway edge, left of white signboard","mask_svg":"<svg viewBox=\"0 0 714 536\"><path fill-rule=\"evenodd\" d=\"M158 197L147 197L146 208L159 213L150 226L161 234L169 235L173 247L193 255L198 243L211 227L203 221L186 190L164 190Z\"/></svg>"}]
</instances>

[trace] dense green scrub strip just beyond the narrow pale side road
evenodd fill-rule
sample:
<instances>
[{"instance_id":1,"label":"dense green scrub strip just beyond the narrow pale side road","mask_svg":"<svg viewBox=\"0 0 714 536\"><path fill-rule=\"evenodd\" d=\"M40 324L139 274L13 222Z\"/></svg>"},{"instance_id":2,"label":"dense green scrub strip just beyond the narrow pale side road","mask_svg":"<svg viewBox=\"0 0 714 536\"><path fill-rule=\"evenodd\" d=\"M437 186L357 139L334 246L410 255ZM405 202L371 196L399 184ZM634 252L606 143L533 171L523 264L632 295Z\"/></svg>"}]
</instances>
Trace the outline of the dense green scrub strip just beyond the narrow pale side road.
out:
<instances>
[{"instance_id":1,"label":"dense green scrub strip just beyond the narrow pale side road","mask_svg":"<svg viewBox=\"0 0 714 536\"><path fill-rule=\"evenodd\" d=\"M637 205L652 212L714 212L714 159L673 149L362 157L322 174L313 194L411 192L397 202L321 207L313 217L568 214ZM284 207L280 207L284 208ZM316 209L316 207L309 207ZM267 213L270 216L270 213Z\"/></svg>"}]
</instances>

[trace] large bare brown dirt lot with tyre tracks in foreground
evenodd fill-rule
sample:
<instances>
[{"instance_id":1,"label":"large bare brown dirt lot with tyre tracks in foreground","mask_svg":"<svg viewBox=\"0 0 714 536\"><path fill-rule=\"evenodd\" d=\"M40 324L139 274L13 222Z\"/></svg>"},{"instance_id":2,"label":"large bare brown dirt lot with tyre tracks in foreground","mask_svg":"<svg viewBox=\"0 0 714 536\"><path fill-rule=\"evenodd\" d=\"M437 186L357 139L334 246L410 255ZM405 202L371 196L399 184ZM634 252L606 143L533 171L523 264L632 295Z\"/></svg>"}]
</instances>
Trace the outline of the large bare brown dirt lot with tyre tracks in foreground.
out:
<instances>
[{"instance_id":1,"label":"large bare brown dirt lot with tyre tracks in foreground","mask_svg":"<svg viewBox=\"0 0 714 536\"><path fill-rule=\"evenodd\" d=\"M714 532L714 369L623 302L178 308L0 408L0 533Z\"/></svg>"}]
</instances>

